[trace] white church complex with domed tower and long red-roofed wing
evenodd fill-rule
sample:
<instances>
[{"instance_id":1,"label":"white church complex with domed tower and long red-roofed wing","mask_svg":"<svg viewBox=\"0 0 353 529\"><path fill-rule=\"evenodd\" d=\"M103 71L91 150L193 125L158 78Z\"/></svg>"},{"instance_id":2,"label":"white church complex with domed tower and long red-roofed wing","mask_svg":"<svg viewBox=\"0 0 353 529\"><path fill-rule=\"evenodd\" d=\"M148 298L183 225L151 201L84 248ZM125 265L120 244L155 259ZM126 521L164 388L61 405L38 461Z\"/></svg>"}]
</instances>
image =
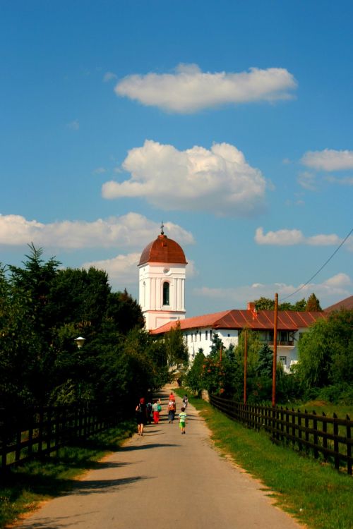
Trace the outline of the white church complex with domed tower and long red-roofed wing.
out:
<instances>
[{"instance_id":1,"label":"white church complex with domed tower and long red-roofed wing","mask_svg":"<svg viewBox=\"0 0 353 529\"><path fill-rule=\"evenodd\" d=\"M186 318L186 262L184 250L163 231L149 243L140 255L139 303L150 334L160 335L180 324L181 332L193 360L198 350L208 355L213 336L218 334L225 347L237 346L243 329L258 333L261 343L273 346L274 310L256 311L249 302L246 309L224 310ZM327 317L324 312L277 313L277 361L289 372L298 361L297 344L301 335L317 320Z\"/></svg>"}]
</instances>

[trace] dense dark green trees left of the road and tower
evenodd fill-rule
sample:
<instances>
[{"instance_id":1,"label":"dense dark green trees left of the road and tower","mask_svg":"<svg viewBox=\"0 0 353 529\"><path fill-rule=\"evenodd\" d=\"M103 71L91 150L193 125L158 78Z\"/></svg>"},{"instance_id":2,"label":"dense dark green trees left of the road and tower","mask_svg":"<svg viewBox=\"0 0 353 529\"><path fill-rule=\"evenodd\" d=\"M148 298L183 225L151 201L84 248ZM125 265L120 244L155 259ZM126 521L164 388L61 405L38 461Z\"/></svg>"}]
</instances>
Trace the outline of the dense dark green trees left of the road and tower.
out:
<instances>
[{"instance_id":1,"label":"dense dark green trees left of the road and tower","mask_svg":"<svg viewBox=\"0 0 353 529\"><path fill-rule=\"evenodd\" d=\"M0 405L126 408L167 382L165 343L143 330L140 306L112 292L106 272L59 269L34 245L25 257L23 267L0 267Z\"/></svg>"}]
</instances>

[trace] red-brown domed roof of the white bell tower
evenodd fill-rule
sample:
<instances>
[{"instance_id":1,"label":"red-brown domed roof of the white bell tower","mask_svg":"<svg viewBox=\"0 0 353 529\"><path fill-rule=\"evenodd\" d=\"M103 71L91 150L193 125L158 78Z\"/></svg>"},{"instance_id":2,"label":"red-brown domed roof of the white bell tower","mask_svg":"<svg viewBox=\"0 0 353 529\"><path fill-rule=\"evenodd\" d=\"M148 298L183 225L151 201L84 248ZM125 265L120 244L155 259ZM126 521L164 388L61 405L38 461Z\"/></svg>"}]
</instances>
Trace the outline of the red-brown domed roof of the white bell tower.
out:
<instances>
[{"instance_id":1,"label":"red-brown domed roof of the white bell tower","mask_svg":"<svg viewBox=\"0 0 353 529\"><path fill-rule=\"evenodd\" d=\"M146 246L143 253L141 253L138 265L145 265L146 262L181 263L187 265L181 246L172 239L167 238L163 233Z\"/></svg>"}]
</instances>

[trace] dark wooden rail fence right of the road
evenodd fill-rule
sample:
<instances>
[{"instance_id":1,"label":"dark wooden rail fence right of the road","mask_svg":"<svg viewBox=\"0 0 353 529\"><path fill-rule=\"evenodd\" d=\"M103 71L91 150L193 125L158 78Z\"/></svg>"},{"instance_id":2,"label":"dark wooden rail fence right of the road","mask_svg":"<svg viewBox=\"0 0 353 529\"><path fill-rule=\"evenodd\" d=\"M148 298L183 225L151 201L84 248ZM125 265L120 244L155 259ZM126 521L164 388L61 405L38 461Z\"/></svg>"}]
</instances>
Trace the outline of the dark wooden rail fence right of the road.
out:
<instances>
[{"instance_id":1,"label":"dark wooden rail fence right of the road","mask_svg":"<svg viewBox=\"0 0 353 529\"><path fill-rule=\"evenodd\" d=\"M349 415L340 419L315 411L302 413L278 406L244 404L219 396L210 395L210 403L228 415L255 430L265 430L274 442L291 445L299 451L306 451L323 461L332 462L338 470L344 466L352 475L352 429L353 420Z\"/></svg>"}]
</instances>

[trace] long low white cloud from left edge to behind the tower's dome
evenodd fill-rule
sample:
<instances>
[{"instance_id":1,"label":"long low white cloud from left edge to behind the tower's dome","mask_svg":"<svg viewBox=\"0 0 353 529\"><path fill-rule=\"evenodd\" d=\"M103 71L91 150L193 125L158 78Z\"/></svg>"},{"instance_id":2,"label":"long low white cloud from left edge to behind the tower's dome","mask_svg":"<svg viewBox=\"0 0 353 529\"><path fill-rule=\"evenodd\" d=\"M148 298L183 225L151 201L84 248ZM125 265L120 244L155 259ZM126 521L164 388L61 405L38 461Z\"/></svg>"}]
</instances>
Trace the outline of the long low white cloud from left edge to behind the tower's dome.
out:
<instances>
[{"instance_id":1,"label":"long low white cloud from left edge to behind the tower's dome","mask_svg":"<svg viewBox=\"0 0 353 529\"><path fill-rule=\"evenodd\" d=\"M172 222L164 222L164 231L180 244L192 244L193 236ZM30 242L45 248L144 248L160 233L160 224L138 213L121 217L85 221L57 221L43 224L20 215L0 214L0 245L24 245Z\"/></svg>"}]
</instances>

